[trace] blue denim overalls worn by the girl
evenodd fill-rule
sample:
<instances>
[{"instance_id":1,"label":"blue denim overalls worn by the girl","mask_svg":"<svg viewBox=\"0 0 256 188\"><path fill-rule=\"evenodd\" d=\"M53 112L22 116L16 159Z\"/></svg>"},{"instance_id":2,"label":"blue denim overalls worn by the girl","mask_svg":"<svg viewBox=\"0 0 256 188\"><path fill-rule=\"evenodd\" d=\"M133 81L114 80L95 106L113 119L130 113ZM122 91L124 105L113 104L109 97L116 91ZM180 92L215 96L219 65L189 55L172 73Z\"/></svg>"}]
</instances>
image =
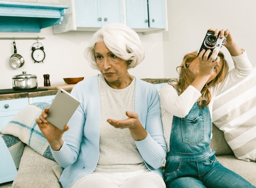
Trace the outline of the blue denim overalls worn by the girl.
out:
<instances>
[{"instance_id":1,"label":"blue denim overalls worn by the girl","mask_svg":"<svg viewBox=\"0 0 256 188\"><path fill-rule=\"evenodd\" d=\"M197 102L186 117L173 116L164 171L168 188L254 187L217 161L209 147L211 128L209 107L200 107Z\"/></svg>"}]
</instances>

